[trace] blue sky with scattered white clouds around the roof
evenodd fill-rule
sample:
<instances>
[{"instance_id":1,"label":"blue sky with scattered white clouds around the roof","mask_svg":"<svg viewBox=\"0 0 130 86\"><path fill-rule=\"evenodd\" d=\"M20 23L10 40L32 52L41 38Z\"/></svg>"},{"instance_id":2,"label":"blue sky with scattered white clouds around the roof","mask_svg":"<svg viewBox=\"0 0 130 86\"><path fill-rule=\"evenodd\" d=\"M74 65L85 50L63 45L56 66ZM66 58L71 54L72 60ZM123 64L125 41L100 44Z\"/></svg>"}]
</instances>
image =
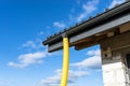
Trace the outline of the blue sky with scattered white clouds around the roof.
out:
<instances>
[{"instance_id":1,"label":"blue sky with scattered white clouds around the roof","mask_svg":"<svg viewBox=\"0 0 130 86\"><path fill-rule=\"evenodd\" d=\"M60 86L62 51L41 42L125 0L0 0L0 86ZM100 46L70 48L68 86L103 86Z\"/></svg>"}]
</instances>

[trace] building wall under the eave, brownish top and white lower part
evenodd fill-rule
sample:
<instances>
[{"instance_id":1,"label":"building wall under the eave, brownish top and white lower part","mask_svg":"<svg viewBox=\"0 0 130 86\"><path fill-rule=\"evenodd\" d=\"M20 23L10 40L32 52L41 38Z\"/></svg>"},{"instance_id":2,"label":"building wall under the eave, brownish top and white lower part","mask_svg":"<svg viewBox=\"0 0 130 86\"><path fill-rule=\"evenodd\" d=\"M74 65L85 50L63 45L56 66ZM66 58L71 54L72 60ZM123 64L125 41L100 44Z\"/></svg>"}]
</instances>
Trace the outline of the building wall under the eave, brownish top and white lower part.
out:
<instances>
[{"instance_id":1,"label":"building wall under the eave, brownish top and white lower part","mask_svg":"<svg viewBox=\"0 0 130 86\"><path fill-rule=\"evenodd\" d=\"M130 32L103 40L100 44L104 86L127 86L125 54L130 53Z\"/></svg>"}]
</instances>

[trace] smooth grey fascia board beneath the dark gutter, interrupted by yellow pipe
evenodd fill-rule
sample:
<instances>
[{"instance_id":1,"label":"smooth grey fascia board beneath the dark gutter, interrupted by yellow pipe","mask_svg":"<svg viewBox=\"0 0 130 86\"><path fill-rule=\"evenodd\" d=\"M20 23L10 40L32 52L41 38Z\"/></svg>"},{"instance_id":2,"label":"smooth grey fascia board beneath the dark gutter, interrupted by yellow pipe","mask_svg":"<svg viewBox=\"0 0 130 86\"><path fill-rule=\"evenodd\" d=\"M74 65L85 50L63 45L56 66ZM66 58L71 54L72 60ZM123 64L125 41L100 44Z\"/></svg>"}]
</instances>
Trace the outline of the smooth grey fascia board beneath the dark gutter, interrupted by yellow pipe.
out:
<instances>
[{"instance_id":1,"label":"smooth grey fascia board beneath the dark gutter, interrupted by yellow pipe","mask_svg":"<svg viewBox=\"0 0 130 86\"><path fill-rule=\"evenodd\" d=\"M129 22L130 22L130 12L129 12L129 14L121 15L120 17L118 17L116 19L113 19L113 20L110 20L110 22L108 22L104 25L91 28L88 31L83 31L83 32L80 32L80 33L78 33L74 37L70 37L69 38L70 46L76 46L76 42L78 42L80 40L90 38L90 37L96 34L96 33L100 33L100 32L108 31L110 29L119 27L120 25L123 25L123 24L129 23ZM56 43L49 44L49 46L48 46L48 51L50 53L62 49L62 48L63 48L63 42L62 41L57 41Z\"/></svg>"}]
</instances>

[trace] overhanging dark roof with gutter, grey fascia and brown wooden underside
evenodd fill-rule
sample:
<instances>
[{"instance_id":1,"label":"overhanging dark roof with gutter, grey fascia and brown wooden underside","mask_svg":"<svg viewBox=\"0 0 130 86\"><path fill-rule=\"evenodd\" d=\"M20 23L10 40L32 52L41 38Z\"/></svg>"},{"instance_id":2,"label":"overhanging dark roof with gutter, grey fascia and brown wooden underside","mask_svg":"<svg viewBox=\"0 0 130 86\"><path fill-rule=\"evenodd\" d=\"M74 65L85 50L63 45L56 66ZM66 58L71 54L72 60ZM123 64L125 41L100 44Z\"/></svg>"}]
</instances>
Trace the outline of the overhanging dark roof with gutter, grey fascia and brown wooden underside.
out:
<instances>
[{"instance_id":1,"label":"overhanging dark roof with gutter, grey fascia and brown wooden underside","mask_svg":"<svg viewBox=\"0 0 130 86\"><path fill-rule=\"evenodd\" d=\"M62 34L66 33L69 38L70 46L80 49L84 46L98 44L100 40L106 38L102 34L128 22L130 22L130 1L117 5L114 9L106 10L104 13L75 27L55 33L43 41L43 44L48 45L49 52L62 49ZM83 45L84 43L86 45Z\"/></svg>"}]
</instances>

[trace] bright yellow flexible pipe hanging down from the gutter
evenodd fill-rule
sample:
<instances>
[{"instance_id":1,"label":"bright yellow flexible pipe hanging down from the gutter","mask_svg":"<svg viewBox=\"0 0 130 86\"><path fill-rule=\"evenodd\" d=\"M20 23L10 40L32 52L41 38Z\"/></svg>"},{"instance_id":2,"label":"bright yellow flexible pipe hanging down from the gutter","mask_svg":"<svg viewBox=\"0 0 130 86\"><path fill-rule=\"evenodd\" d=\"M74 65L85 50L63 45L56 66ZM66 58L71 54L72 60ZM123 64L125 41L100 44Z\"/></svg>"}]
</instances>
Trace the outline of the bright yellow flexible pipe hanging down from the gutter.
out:
<instances>
[{"instance_id":1,"label":"bright yellow flexible pipe hanging down from the gutter","mask_svg":"<svg viewBox=\"0 0 130 86\"><path fill-rule=\"evenodd\" d=\"M69 70L69 42L68 38L63 38L63 71L61 86L67 86L68 70Z\"/></svg>"}]
</instances>

